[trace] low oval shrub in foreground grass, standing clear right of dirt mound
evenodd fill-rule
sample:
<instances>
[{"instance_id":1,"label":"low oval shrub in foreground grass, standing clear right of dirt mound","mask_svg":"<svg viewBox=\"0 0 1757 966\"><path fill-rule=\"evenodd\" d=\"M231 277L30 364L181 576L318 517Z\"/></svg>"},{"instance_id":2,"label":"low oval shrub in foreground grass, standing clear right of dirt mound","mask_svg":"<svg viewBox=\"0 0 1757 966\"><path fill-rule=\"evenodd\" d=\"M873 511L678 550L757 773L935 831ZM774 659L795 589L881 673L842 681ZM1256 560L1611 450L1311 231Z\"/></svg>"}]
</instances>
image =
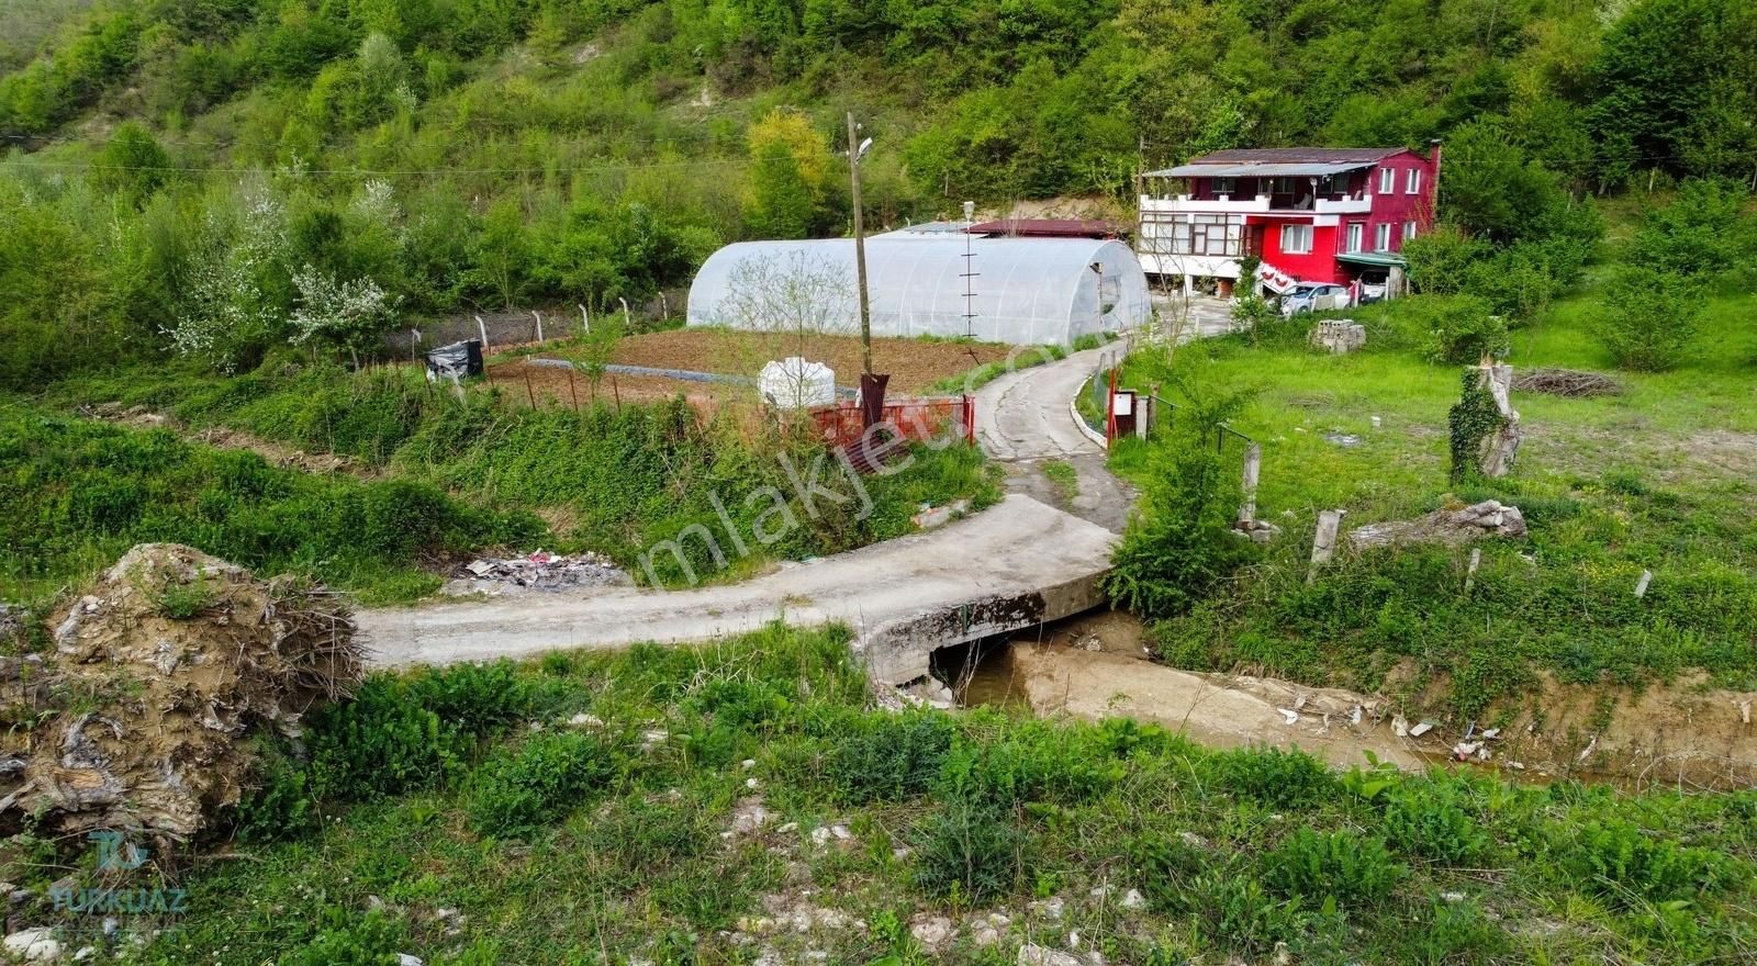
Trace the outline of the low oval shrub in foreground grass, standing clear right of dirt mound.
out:
<instances>
[{"instance_id":1,"label":"low oval shrub in foreground grass, standing clear right of dirt mound","mask_svg":"<svg viewBox=\"0 0 1757 966\"><path fill-rule=\"evenodd\" d=\"M464 813L480 834L520 838L548 827L615 776L610 750L590 734L536 734L476 769Z\"/></svg>"}]
</instances>

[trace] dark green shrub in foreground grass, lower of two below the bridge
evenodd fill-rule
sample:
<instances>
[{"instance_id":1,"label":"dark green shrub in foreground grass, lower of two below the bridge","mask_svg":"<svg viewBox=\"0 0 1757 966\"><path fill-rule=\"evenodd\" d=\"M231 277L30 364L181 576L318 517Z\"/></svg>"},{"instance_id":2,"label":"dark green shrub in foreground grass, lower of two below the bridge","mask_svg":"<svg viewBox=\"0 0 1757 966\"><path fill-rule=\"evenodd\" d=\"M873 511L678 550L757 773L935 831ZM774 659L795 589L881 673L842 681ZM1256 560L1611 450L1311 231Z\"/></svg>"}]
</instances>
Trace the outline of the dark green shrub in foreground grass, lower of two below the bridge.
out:
<instances>
[{"instance_id":1,"label":"dark green shrub in foreground grass, lower of two below the bridge","mask_svg":"<svg viewBox=\"0 0 1757 966\"><path fill-rule=\"evenodd\" d=\"M1028 845L1014 811L952 797L917 833L915 885L936 898L986 903L1012 890Z\"/></svg>"}]
</instances>

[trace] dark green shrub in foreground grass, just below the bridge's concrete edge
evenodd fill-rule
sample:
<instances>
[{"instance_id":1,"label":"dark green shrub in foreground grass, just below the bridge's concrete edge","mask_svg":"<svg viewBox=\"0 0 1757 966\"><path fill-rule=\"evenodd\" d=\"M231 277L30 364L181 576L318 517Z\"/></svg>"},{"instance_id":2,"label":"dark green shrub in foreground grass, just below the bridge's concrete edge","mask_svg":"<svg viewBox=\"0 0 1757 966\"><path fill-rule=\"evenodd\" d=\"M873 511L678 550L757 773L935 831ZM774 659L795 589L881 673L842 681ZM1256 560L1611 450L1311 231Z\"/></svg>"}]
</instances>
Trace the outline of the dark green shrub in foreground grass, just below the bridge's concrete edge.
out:
<instances>
[{"instance_id":1,"label":"dark green shrub in foreground grass, just below the bridge's concrete edge","mask_svg":"<svg viewBox=\"0 0 1757 966\"><path fill-rule=\"evenodd\" d=\"M824 762L831 794L847 804L903 801L926 792L952 748L945 715L850 717Z\"/></svg>"}]
</instances>

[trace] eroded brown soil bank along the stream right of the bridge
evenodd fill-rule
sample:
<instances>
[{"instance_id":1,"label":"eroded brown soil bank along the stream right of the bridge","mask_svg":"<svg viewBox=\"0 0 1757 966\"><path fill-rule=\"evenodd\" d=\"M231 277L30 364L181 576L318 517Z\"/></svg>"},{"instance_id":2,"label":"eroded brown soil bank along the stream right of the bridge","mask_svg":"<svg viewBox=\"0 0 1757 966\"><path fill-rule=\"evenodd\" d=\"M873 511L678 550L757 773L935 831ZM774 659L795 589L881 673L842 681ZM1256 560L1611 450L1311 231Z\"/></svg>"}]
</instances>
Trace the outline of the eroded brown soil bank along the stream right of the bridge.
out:
<instances>
[{"instance_id":1,"label":"eroded brown soil bank along the stream right of the bridge","mask_svg":"<svg viewBox=\"0 0 1757 966\"><path fill-rule=\"evenodd\" d=\"M1469 762L1509 778L1581 778L1630 789L1757 785L1757 692L1710 688L1701 676L1643 690L1543 680L1483 722L1448 717L1448 681L1393 699L1276 678L1179 671L1147 657L1126 613L1091 613L972 652L958 696L1038 715L1132 717L1212 746L1304 748L1339 768L1365 753L1399 768ZM1425 727L1423 727L1425 725ZM1499 725L1499 727L1495 727ZM1493 729L1493 731L1490 731ZM1485 738L1486 736L1486 738Z\"/></svg>"}]
</instances>

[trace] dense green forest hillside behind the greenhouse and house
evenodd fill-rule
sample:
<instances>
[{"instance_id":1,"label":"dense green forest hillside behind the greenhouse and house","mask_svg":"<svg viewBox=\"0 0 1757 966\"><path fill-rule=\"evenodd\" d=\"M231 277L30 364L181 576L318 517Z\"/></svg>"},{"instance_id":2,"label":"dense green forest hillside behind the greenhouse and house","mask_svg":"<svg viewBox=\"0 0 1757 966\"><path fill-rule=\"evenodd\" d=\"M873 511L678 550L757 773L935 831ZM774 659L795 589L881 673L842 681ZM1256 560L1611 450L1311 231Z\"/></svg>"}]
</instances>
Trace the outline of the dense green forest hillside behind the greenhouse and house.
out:
<instances>
[{"instance_id":1,"label":"dense green forest hillside behind the greenhouse and house","mask_svg":"<svg viewBox=\"0 0 1757 966\"><path fill-rule=\"evenodd\" d=\"M1757 177L1743 0L19 0L0 70L16 388L638 300L727 241L840 234L845 111L877 223L1291 142L1444 137L1442 211L1499 246Z\"/></svg>"}]
</instances>

